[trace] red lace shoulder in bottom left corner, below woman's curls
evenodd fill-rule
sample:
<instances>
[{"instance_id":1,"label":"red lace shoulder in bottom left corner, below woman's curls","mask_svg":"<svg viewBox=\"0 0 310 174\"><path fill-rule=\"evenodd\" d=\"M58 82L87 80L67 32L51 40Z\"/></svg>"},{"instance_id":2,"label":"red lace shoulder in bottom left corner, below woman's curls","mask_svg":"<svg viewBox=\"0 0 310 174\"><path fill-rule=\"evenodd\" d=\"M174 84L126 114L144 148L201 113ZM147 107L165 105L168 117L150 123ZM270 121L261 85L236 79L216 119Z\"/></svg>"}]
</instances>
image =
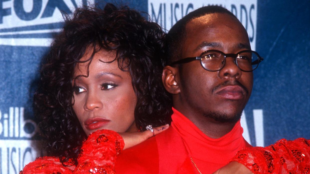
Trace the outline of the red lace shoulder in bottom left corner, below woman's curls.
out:
<instances>
[{"instance_id":1,"label":"red lace shoulder in bottom left corner, below woman's curls","mask_svg":"<svg viewBox=\"0 0 310 174\"><path fill-rule=\"evenodd\" d=\"M74 169L74 166L71 166ZM52 156L39 157L35 161L27 164L20 174L50 174L62 173L72 174L70 167L65 167L60 163L59 158Z\"/></svg>"}]
</instances>

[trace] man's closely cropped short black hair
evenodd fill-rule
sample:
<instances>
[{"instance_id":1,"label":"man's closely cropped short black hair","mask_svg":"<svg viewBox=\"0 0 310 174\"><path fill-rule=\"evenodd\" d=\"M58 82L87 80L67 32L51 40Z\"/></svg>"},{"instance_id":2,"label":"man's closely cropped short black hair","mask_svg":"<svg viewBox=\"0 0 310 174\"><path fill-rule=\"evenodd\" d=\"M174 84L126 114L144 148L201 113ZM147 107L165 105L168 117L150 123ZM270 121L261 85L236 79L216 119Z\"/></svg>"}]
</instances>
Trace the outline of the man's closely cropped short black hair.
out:
<instances>
[{"instance_id":1,"label":"man's closely cropped short black hair","mask_svg":"<svg viewBox=\"0 0 310 174\"><path fill-rule=\"evenodd\" d=\"M175 25L170 29L166 38L167 38L167 46L166 46L166 63L169 65L170 63L177 61L181 58L181 48L184 42L184 38L186 36L186 24L198 17L212 14L212 13L226 13L228 15L232 15L237 19L237 17L232 14L232 12L228 11L226 8L222 6L203 6L198 8L188 15L184 16Z\"/></svg>"}]
</instances>

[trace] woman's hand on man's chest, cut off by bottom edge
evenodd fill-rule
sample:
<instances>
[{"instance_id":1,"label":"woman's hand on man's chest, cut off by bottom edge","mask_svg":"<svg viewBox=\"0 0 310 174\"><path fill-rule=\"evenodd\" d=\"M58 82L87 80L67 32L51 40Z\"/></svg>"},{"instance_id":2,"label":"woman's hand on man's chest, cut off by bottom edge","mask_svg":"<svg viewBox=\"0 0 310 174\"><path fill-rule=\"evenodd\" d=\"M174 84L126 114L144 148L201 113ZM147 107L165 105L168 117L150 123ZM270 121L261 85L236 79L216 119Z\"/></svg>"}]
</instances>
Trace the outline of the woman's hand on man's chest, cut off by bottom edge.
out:
<instances>
[{"instance_id":1,"label":"woman's hand on man's chest, cut off by bottom edge","mask_svg":"<svg viewBox=\"0 0 310 174\"><path fill-rule=\"evenodd\" d=\"M246 166L236 161L228 163L226 166L220 168L213 174L229 174L229 173L253 174L250 171L250 169L246 168Z\"/></svg>"}]
</instances>

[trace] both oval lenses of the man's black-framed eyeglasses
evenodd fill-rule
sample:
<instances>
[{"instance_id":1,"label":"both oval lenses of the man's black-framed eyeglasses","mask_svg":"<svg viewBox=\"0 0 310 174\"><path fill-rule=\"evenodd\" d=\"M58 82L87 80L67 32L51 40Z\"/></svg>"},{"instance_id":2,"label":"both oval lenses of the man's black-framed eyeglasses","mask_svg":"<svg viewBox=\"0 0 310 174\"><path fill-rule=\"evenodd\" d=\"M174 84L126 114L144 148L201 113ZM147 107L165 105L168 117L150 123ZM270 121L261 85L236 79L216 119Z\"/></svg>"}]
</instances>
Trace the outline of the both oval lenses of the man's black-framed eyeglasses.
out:
<instances>
[{"instance_id":1,"label":"both oval lenses of the man's black-framed eyeglasses","mask_svg":"<svg viewBox=\"0 0 310 174\"><path fill-rule=\"evenodd\" d=\"M235 57L233 57L235 58ZM244 71L252 71L255 70L258 64L252 62L258 62L259 56L251 51L246 51L237 54L237 66ZM223 68L225 65L225 56L216 51L207 51L201 54L201 65L210 71L217 71Z\"/></svg>"}]
</instances>

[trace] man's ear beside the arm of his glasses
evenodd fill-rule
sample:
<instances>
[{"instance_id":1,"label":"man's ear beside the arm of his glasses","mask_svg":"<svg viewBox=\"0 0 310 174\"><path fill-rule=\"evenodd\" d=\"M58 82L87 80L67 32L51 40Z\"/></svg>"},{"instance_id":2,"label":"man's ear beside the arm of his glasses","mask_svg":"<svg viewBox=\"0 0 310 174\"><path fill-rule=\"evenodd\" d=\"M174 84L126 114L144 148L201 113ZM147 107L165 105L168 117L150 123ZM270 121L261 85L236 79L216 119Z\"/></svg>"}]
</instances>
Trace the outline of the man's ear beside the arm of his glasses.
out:
<instances>
[{"instance_id":1,"label":"man's ear beside the arm of his glasses","mask_svg":"<svg viewBox=\"0 0 310 174\"><path fill-rule=\"evenodd\" d=\"M171 94L179 94L179 78L176 78L179 75L179 69L172 66L165 66L162 70L162 83L166 90Z\"/></svg>"}]
</instances>

